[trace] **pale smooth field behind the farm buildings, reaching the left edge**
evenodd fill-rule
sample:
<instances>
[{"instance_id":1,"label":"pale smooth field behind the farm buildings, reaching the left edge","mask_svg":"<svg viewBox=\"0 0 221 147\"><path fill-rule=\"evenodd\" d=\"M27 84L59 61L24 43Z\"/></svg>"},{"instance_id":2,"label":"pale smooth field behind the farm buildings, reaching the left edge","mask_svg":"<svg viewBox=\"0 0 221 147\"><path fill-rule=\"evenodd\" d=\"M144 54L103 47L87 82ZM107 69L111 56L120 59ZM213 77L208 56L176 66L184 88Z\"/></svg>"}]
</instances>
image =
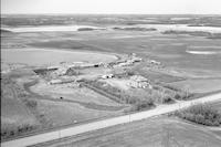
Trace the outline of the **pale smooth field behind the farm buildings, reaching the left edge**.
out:
<instances>
[{"instance_id":1,"label":"pale smooth field behind the farm buildings, reaching the left edge","mask_svg":"<svg viewBox=\"0 0 221 147\"><path fill-rule=\"evenodd\" d=\"M27 57L23 57L27 56ZM92 52L72 52L72 51L60 51L60 50L4 50L1 51L1 57L4 63L20 63L28 64L31 66L45 66L45 65L57 65L60 62L91 62L108 63L117 60L114 55L107 55L104 53L92 53Z\"/></svg>"}]
</instances>

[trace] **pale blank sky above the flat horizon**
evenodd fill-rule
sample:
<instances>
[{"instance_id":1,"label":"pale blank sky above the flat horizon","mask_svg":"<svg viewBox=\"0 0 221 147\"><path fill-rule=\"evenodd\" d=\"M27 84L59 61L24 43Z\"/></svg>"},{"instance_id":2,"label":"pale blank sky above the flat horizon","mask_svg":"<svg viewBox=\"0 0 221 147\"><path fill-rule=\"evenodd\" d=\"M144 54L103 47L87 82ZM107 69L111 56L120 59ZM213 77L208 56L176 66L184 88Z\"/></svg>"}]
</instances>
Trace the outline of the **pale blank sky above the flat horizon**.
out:
<instances>
[{"instance_id":1,"label":"pale blank sky above the flat horizon","mask_svg":"<svg viewBox=\"0 0 221 147\"><path fill-rule=\"evenodd\" d=\"M1 13L221 14L221 0L1 0Z\"/></svg>"}]
</instances>

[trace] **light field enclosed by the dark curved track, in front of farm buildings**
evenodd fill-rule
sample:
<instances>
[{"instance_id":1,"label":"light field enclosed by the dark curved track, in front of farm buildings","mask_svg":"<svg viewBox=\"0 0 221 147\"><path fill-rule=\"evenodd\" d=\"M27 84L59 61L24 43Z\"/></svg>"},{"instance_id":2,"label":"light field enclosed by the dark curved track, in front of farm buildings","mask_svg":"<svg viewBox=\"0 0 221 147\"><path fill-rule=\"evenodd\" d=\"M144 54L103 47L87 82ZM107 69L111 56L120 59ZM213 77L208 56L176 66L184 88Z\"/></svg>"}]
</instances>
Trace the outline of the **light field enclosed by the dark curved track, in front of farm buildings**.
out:
<instances>
[{"instance_id":1,"label":"light field enclosed by the dark curved track, in front of farm buildings","mask_svg":"<svg viewBox=\"0 0 221 147\"><path fill-rule=\"evenodd\" d=\"M65 85L48 85L45 82L40 82L31 87L34 93L41 93L41 95L49 96L54 99L63 97L73 102L82 103L96 103L97 105L117 106L117 103L109 101L108 98L98 95L97 93L86 87L74 87L74 84Z\"/></svg>"}]
</instances>

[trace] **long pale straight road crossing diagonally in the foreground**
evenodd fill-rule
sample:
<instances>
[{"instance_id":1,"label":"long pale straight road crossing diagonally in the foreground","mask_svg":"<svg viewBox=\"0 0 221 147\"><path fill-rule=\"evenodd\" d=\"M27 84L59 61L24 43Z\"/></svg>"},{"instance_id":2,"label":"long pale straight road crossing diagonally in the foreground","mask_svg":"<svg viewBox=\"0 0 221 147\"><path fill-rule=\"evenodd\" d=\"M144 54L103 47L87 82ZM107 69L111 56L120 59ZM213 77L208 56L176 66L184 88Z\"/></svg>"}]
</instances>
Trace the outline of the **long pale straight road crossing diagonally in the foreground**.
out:
<instances>
[{"instance_id":1,"label":"long pale straight road crossing diagonally in the foreground","mask_svg":"<svg viewBox=\"0 0 221 147\"><path fill-rule=\"evenodd\" d=\"M215 102L215 101L220 101L220 99L221 99L221 93L218 93L218 94L204 96L204 97L201 97L198 99L192 99L192 101L188 101L188 102L179 102L176 104L157 107L155 109L150 109L150 111L146 111L146 112L139 112L139 113L135 113L135 114L130 114L130 115L118 116L118 117L98 120L98 122L94 122L94 123L83 124L83 125L73 126L73 127L69 127L69 128L63 128L60 130L54 130L54 132L50 132L50 133L43 133L43 134L34 135L34 136L29 136L29 137L19 138L19 139L14 139L14 140L10 140L10 141L4 141L4 143L1 143L1 147L31 146L31 145L50 141L50 140L54 140L54 139L59 139L59 138L64 138L64 137L69 137L69 136L74 136L74 135L78 135L78 134L83 134L83 133L87 133L87 132L92 132L92 130L97 130L101 128L106 128L106 127L110 127L110 126L115 126L115 125L119 125L119 124L130 123L130 122L135 122L135 120L141 120L145 118L149 118L149 117L171 113L171 112L175 112L175 111L178 111L181 108L186 108L193 104Z\"/></svg>"}]
</instances>

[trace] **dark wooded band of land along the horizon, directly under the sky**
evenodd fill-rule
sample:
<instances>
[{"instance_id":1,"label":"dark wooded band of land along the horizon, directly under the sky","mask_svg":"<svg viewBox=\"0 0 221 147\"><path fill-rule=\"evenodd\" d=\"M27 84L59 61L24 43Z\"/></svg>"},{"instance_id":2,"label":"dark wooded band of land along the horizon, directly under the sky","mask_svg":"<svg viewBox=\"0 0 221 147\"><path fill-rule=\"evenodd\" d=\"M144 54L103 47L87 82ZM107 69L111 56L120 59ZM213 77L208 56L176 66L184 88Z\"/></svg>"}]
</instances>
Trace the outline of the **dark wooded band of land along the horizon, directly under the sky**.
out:
<instances>
[{"instance_id":1,"label":"dark wooded band of land along the horizon, directly under the sky","mask_svg":"<svg viewBox=\"0 0 221 147\"><path fill-rule=\"evenodd\" d=\"M34 21L31 21L33 20ZM187 24L191 27L221 27L220 15L194 14L69 14L69 15L2 15L3 24L22 25L64 25L73 20L80 24Z\"/></svg>"}]
</instances>

